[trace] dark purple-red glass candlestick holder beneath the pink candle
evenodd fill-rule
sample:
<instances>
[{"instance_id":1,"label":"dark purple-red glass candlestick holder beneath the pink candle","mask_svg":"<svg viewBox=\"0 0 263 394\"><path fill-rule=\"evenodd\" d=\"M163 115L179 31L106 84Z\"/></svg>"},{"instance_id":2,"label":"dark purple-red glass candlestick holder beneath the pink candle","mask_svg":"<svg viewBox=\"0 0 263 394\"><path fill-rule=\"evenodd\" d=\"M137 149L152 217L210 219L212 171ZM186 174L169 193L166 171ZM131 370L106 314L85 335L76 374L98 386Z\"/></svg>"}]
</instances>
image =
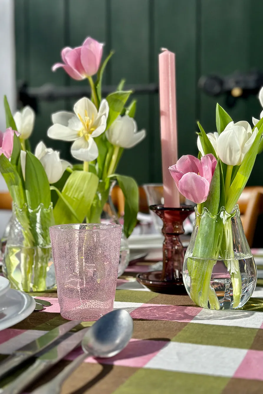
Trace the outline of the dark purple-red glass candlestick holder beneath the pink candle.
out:
<instances>
[{"instance_id":1,"label":"dark purple-red glass candlestick holder beneath the pink candle","mask_svg":"<svg viewBox=\"0 0 263 394\"><path fill-rule=\"evenodd\" d=\"M166 208L151 205L150 209L163 221L163 269L137 275L137 281L150 290L165 294L187 294L183 285L183 245L179 235L184 233L183 221L194 212L194 207Z\"/></svg>"}]
</instances>

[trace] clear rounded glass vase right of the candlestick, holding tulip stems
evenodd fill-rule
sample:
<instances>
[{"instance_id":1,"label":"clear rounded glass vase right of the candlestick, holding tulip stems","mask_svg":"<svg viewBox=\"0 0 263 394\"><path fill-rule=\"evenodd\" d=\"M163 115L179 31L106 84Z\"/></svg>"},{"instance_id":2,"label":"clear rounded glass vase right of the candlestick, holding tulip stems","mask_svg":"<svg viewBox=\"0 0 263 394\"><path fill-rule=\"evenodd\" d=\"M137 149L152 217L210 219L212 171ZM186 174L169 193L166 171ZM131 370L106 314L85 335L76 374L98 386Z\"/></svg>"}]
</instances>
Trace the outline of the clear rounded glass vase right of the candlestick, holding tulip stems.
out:
<instances>
[{"instance_id":1,"label":"clear rounded glass vase right of the candlestick, holding tulip stems","mask_svg":"<svg viewBox=\"0 0 263 394\"><path fill-rule=\"evenodd\" d=\"M183 263L191 299L207 309L241 308L252 296L257 269L240 219L239 206L218 215L195 208L196 219Z\"/></svg>"}]
</instances>

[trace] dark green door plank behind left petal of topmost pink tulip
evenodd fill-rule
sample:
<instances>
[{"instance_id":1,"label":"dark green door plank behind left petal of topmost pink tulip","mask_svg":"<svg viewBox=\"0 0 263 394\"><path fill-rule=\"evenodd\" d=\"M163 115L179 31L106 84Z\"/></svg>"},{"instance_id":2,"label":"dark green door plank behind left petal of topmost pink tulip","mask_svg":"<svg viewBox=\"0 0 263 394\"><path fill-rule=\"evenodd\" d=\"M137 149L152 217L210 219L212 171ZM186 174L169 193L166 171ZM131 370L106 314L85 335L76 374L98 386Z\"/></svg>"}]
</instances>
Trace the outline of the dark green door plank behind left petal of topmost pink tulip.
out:
<instances>
[{"instance_id":1,"label":"dark green door plank behind left petal of topmost pink tulip","mask_svg":"<svg viewBox=\"0 0 263 394\"><path fill-rule=\"evenodd\" d=\"M29 37L26 43L29 46L29 80L27 82L30 86L41 86L47 83L64 85L65 72L62 69L56 72L51 71L52 65L60 61L60 51L64 46L64 1L27 1L29 23ZM39 103L35 130L30 138L32 147L43 139L48 147L65 151L65 142L52 140L46 136L46 130L51 125L51 113L63 110L64 107L65 100ZM65 155L61 156L65 158Z\"/></svg>"}]
</instances>

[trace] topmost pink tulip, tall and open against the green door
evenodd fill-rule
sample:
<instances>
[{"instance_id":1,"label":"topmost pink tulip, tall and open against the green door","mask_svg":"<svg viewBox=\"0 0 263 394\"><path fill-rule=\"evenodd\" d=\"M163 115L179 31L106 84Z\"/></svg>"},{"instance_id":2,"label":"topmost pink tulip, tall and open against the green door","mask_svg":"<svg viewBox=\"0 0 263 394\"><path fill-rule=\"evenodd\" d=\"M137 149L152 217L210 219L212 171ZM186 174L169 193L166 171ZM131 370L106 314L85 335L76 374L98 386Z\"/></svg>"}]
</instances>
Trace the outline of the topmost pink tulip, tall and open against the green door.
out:
<instances>
[{"instance_id":1,"label":"topmost pink tulip, tall and open against the green door","mask_svg":"<svg viewBox=\"0 0 263 394\"><path fill-rule=\"evenodd\" d=\"M73 49L66 46L61 51L61 58L65 64L55 63L52 71L63 67L71 78L78 81L96 74L100 67L103 45L93 38L87 37L81 46Z\"/></svg>"}]
</instances>

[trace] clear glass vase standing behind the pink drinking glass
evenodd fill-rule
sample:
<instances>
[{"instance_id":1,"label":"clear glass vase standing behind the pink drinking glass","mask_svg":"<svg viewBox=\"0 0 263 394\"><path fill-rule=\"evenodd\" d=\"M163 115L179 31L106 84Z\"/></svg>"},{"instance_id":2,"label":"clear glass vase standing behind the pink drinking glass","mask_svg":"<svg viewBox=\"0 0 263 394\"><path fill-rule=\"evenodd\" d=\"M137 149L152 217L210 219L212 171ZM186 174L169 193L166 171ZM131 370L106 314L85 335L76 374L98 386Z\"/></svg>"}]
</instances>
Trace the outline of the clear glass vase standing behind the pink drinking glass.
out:
<instances>
[{"instance_id":1,"label":"clear glass vase standing behind the pink drinking glass","mask_svg":"<svg viewBox=\"0 0 263 394\"><path fill-rule=\"evenodd\" d=\"M115 186L116 181L109 182L100 181L96 199L94 199L93 215L90 218L90 223L110 223L123 224L123 218L118 217L115 206L111 199L111 192ZM122 275L130 262L130 249L128 240L122 230L122 237L120 241L120 260L118 268L118 277Z\"/></svg>"}]
</instances>

